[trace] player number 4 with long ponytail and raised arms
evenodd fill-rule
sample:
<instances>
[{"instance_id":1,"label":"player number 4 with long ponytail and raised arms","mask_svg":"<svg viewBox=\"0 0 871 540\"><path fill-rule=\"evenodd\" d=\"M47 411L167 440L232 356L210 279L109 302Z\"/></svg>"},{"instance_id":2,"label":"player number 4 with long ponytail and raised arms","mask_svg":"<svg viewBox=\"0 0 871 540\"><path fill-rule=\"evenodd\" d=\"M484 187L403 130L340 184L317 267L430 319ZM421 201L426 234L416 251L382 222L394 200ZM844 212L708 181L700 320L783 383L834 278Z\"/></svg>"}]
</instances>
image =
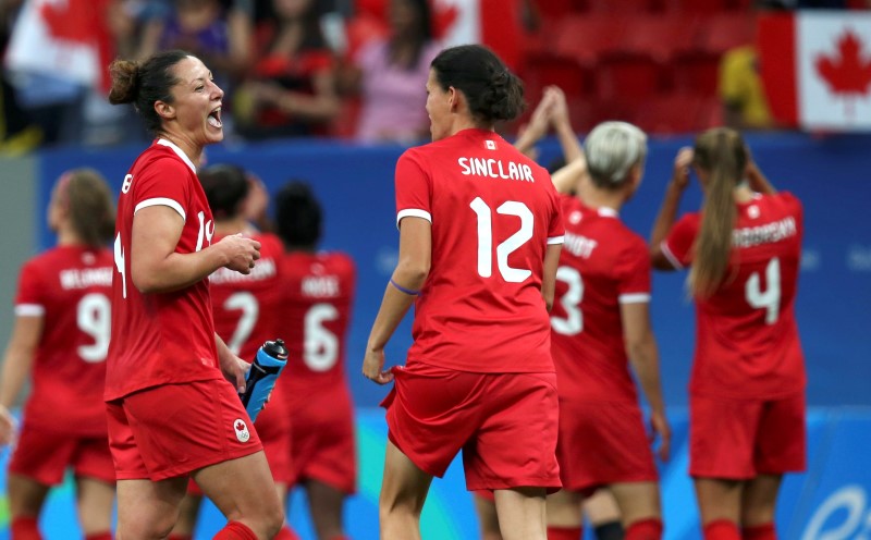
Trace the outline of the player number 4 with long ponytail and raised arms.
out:
<instances>
[{"instance_id":1,"label":"player number 4 with long ponytail and raised arms","mask_svg":"<svg viewBox=\"0 0 871 540\"><path fill-rule=\"evenodd\" d=\"M701 211L675 221L692 168ZM689 267L696 303L690 475L706 540L775 538L784 472L805 469L805 366L795 319L801 204L777 193L740 135L682 149L651 234L653 265Z\"/></svg>"}]
</instances>

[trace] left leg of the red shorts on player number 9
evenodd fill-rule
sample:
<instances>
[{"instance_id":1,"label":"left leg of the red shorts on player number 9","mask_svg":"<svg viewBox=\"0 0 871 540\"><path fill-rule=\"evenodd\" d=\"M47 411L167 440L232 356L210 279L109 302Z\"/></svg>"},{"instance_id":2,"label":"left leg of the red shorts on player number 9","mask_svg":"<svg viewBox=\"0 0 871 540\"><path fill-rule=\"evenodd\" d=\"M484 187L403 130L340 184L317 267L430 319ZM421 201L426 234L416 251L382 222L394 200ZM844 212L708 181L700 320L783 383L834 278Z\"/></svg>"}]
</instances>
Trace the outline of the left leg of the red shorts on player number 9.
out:
<instances>
[{"instance_id":1,"label":"left leg of the red shorts on player number 9","mask_svg":"<svg viewBox=\"0 0 871 540\"><path fill-rule=\"evenodd\" d=\"M26 421L12 452L9 471L46 486L63 481L76 450L76 438L27 426Z\"/></svg>"}]
</instances>

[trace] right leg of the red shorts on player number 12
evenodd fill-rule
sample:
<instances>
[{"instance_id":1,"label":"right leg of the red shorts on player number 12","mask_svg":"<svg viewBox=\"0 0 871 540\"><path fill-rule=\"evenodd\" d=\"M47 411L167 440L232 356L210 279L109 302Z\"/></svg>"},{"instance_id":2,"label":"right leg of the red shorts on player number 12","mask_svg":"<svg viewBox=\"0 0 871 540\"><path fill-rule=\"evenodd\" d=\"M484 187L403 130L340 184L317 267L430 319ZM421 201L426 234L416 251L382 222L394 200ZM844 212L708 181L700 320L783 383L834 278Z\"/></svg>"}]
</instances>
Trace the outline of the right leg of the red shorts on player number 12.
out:
<instances>
[{"instance_id":1,"label":"right leg of the red shorts on player number 12","mask_svg":"<svg viewBox=\"0 0 871 540\"><path fill-rule=\"evenodd\" d=\"M556 464L560 405L554 373L488 375L486 416L463 446L469 490L562 486Z\"/></svg>"}]
</instances>

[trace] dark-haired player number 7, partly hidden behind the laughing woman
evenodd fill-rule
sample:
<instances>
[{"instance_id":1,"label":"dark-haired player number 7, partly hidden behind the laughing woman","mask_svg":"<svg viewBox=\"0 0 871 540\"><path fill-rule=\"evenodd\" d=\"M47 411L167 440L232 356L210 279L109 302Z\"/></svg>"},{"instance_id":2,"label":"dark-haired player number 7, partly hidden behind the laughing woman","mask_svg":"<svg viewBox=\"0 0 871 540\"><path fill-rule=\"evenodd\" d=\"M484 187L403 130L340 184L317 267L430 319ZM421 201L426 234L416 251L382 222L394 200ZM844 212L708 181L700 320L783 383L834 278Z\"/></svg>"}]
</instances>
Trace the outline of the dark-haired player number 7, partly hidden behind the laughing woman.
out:
<instances>
[{"instance_id":1,"label":"dark-haired player number 7, partly hidden behind the laughing woman","mask_svg":"<svg viewBox=\"0 0 871 540\"><path fill-rule=\"evenodd\" d=\"M286 311L279 267L284 250L277 236L258 232L246 220L244 210L252 192L245 171L235 165L218 164L201 170L198 175L214 216L212 241L243 234L260 243L260 258L250 273L219 268L209 277L214 331L233 354L252 361L266 341L283 335L279 322ZM257 433L263 443L282 506L292 478L291 417L284 409L284 393L277 390L270 396L269 406L257 416ZM193 537L201 500L203 492L192 482L170 540ZM297 537L285 526L275 538Z\"/></svg>"}]
</instances>

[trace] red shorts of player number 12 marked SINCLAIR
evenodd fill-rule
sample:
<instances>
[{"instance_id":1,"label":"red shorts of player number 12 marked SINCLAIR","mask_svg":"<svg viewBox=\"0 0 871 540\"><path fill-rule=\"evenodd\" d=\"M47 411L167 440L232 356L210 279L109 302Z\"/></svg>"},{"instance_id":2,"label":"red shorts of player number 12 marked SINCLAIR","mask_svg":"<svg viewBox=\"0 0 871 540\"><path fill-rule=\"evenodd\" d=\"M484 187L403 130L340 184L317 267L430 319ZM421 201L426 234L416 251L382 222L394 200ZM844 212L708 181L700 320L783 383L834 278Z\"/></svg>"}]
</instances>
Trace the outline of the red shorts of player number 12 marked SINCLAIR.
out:
<instances>
[{"instance_id":1,"label":"red shorts of player number 12 marked SINCLAIR","mask_svg":"<svg viewBox=\"0 0 871 540\"><path fill-rule=\"evenodd\" d=\"M469 491L562 486L555 373L471 373L420 363L393 373L382 403L389 438L421 470L441 477L463 450Z\"/></svg>"}]
</instances>

